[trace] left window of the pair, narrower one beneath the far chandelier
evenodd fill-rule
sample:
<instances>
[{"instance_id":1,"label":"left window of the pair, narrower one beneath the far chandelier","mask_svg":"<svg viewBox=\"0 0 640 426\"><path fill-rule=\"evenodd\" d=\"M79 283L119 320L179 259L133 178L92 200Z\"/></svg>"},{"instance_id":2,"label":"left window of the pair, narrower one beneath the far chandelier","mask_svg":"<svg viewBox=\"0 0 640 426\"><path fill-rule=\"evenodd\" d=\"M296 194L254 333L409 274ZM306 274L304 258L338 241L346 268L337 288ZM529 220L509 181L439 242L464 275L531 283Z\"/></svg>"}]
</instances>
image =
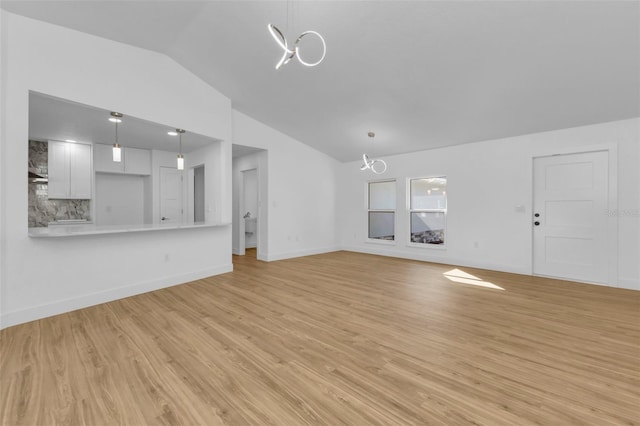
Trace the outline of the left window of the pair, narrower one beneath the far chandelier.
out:
<instances>
[{"instance_id":1,"label":"left window of the pair, narrower one beneath the far chandelier","mask_svg":"<svg viewBox=\"0 0 640 426\"><path fill-rule=\"evenodd\" d=\"M396 239L396 181L369 182L368 215L370 239Z\"/></svg>"}]
</instances>

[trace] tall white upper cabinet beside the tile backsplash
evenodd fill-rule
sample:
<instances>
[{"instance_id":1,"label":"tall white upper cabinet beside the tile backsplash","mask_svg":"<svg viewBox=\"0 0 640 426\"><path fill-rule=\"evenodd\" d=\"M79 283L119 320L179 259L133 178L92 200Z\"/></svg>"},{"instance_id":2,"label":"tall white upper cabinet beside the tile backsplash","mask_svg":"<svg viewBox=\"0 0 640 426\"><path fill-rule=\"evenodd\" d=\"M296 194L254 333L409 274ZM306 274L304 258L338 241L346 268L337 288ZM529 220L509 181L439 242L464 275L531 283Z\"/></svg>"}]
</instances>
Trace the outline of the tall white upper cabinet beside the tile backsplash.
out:
<instances>
[{"instance_id":1,"label":"tall white upper cabinet beside the tile backsplash","mask_svg":"<svg viewBox=\"0 0 640 426\"><path fill-rule=\"evenodd\" d=\"M48 197L90 200L93 175L91 145L49 141L48 157Z\"/></svg>"}]
</instances>

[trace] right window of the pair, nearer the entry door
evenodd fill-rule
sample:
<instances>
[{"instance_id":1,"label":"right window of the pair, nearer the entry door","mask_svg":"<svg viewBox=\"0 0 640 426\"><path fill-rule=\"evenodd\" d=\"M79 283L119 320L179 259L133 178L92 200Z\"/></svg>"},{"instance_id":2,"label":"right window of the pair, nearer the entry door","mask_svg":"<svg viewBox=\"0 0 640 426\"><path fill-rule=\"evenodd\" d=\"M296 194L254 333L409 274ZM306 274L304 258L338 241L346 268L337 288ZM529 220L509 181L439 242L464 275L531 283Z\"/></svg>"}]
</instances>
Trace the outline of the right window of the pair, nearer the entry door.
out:
<instances>
[{"instance_id":1,"label":"right window of the pair, nearer the entry door","mask_svg":"<svg viewBox=\"0 0 640 426\"><path fill-rule=\"evenodd\" d=\"M409 184L411 242L444 244L447 216L447 178L411 179Z\"/></svg>"}]
</instances>

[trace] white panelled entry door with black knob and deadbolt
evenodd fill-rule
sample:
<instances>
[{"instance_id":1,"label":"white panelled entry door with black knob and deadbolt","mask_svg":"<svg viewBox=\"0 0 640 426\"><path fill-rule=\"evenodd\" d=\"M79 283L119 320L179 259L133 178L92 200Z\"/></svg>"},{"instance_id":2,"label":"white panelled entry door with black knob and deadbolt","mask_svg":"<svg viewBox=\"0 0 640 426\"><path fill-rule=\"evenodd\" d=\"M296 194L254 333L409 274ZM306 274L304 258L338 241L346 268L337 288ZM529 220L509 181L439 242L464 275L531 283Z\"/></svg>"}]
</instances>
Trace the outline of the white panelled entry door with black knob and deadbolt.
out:
<instances>
[{"instance_id":1,"label":"white panelled entry door with black knob and deadbolt","mask_svg":"<svg viewBox=\"0 0 640 426\"><path fill-rule=\"evenodd\" d=\"M533 272L606 284L608 152L535 158Z\"/></svg>"}]
</instances>

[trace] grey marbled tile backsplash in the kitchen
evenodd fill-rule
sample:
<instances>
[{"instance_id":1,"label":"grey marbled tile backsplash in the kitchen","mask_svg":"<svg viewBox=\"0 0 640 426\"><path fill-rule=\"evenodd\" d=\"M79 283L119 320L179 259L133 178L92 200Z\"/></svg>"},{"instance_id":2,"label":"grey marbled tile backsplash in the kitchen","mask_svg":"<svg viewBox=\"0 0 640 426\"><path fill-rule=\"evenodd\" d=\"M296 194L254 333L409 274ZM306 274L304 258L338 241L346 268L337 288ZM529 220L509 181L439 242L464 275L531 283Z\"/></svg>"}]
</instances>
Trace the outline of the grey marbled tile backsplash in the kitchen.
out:
<instances>
[{"instance_id":1,"label":"grey marbled tile backsplash in the kitchen","mask_svg":"<svg viewBox=\"0 0 640 426\"><path fill-rule=\"evenodd\" d=\"M29 170L48 175L48 144L29 141ZM29 228L46 227L65 219L91 220L91 200L50 200L47 183L29 180Z\"/></svg>"}]
</instances>

